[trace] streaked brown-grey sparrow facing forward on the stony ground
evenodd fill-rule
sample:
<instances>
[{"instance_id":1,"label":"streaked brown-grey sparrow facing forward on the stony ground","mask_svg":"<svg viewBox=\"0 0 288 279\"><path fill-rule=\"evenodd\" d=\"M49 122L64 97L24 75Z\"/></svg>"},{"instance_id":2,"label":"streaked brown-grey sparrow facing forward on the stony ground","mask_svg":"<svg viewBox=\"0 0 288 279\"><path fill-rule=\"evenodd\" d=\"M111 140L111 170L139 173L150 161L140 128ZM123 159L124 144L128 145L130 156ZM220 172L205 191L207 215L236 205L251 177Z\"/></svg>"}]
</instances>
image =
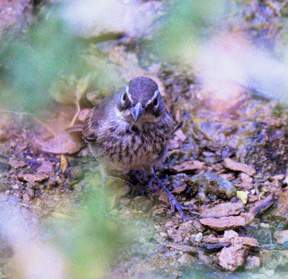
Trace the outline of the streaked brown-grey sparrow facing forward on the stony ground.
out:
<instances>
[{"instance_id":1,"label":"streaked brown-grey sparrow facing forward on the stony ground","mask_svg":"<svg viewBox=\"0 0 288 279\"><path fill-rule=\"evenodd\" d=\"M182 206L153 169L168 156L173 127L156 82L137 77L92 108L84 121L82 137L106 173L145 169L167 193L171 214L176 207L186 221L183 209L192 208Z\"/></svg>"}]
</instances>

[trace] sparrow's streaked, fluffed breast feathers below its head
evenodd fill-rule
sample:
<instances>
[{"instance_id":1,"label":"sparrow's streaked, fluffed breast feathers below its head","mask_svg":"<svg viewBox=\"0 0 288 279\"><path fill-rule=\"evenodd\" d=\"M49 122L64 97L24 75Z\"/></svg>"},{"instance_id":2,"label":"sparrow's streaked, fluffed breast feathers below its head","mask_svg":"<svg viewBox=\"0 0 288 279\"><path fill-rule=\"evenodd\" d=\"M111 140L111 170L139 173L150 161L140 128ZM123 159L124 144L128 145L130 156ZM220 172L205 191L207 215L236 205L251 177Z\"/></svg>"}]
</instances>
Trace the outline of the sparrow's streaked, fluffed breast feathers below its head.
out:
<instances>
[{"instance_id":1,"label":"sparrow's streaked, fluffed breast feathers below its head","mask_svg":"<svg viewBox=\"0 0 288 279\"><path fill-rule=\"evenodd\" d=\"M139 127L112 121L100 125L97 141L90 149L98 150L94 155L113 169L141 169L155 164L158 155L166 149L170 132L154 123Z\"/></svg>"}]
</instances>

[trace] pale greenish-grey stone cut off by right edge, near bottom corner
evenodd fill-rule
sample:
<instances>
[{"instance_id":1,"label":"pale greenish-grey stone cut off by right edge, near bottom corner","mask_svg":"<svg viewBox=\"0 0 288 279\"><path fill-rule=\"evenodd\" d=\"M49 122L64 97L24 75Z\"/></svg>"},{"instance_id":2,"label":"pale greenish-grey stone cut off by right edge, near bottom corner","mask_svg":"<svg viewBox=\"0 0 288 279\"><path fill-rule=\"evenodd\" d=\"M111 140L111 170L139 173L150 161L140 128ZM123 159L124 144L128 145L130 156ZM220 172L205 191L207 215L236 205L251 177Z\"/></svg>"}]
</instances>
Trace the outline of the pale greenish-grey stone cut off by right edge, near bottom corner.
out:
<instances>
[{"instance_id":1,"label":"pale greenish-grey stone cut off by right edge, near bottom corner","mask_svg":"<svg viewBox=\"0 0 288 279\"><path fill-rule=\"evenodd\" d=\"M275 269L276 267L287 267L288 251L287 250L262 250L259 252L262 265L266 269Z\"/></svg>"}]
</instances>

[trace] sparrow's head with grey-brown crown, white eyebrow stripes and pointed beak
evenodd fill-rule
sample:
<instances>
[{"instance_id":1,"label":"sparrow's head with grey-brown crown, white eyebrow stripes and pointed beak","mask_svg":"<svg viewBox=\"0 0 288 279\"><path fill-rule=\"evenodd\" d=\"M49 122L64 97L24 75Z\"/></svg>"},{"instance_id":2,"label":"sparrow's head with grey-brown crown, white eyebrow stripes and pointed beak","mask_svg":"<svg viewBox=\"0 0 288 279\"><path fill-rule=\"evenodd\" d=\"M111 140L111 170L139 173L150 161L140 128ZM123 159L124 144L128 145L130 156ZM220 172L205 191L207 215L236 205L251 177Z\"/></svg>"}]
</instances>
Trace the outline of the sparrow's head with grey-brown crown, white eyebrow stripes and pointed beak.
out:
<instances>
[{"instance_id":1,"label":"sparrow's head with grey-brown crown, white eyebrow stripes and pointed beak","mask_svg":"<svg viewBox=\"0 0 288 279\"><path fill-rule=\"evenodd\" d=\"M166 112L156 82L150 78L133 78L118 92L118 113L132 123L157 122Z\"/></svg>"}]
</instances>

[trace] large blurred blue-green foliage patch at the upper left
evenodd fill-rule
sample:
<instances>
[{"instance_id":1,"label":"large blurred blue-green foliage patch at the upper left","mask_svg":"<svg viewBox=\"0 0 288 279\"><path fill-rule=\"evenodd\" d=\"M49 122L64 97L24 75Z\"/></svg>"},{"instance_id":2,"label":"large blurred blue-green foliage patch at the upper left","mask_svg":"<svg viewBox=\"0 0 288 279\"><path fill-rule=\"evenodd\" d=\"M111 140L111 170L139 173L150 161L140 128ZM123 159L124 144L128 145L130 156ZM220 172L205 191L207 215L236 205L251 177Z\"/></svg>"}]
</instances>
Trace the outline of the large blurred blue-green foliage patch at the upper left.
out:
<instances>
[{"instance_id":1,"label":"large blurred blue-green foliage patch at the upper left","mask_svg":"<svg viewBox=\"0 0 288 279\"><path fill-rule=\"evenodd\" d=\"M75 34L57 11L31 26L29 35L30 41L11 42L1 55L2 80L9 79L2 101L35 111L48 100L52 80L67 71L82 74L83 67Z\"/></svg>"}]
</instances>

